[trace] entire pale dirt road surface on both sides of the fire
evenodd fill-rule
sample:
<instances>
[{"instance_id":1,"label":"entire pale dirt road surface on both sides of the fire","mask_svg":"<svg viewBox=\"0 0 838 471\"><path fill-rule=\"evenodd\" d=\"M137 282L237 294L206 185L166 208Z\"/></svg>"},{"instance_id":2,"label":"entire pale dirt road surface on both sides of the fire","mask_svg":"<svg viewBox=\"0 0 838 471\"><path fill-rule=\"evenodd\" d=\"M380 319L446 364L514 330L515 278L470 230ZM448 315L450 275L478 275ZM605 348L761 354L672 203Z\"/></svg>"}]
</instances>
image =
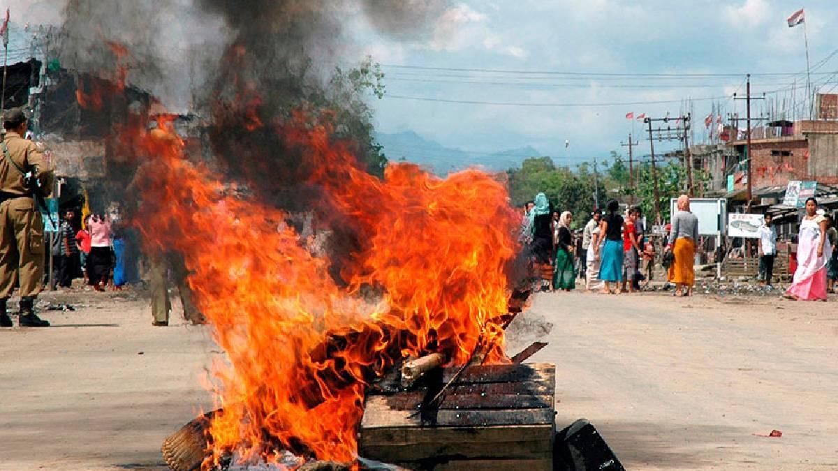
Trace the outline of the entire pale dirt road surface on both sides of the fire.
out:
<instances>
[{"instance_id":1,"label":"entire pale dirt road surface on both sides of the fire","mask_svg":"<svg viewBox=\"0 0 838 471\"><path fill-rule=\"evenodd\" d=\"M212 408L209 329L153 327L132 293L43 298L76 311L0 329L0 469L164 469L163 438ZM510 354L535 339L557 426L586 417L629 469L838 468L834 302L545 293Z\"/></svg>"}]
</instances>

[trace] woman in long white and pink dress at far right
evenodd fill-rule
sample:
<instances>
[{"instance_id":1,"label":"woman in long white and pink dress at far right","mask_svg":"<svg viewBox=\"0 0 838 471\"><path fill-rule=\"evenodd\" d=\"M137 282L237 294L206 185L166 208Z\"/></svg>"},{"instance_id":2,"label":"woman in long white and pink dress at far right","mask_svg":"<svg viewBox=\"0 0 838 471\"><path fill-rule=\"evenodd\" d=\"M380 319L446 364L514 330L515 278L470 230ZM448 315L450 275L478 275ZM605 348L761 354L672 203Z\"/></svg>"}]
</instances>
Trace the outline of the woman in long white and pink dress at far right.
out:
<instances>
[{"instance_id":1,"label":"woman in long white and pink dress at far right","mask_svg":"<svg viewBox=\"0 0 838 471\"><path fill-rule=\"evenodd\" d=\"M826 240L826 218L816 213L818 201L806 199L806 215L800 221L797 241L797 270L785 298L826 301L826 262L832 247Z\"/></svg>"}]
</instances>

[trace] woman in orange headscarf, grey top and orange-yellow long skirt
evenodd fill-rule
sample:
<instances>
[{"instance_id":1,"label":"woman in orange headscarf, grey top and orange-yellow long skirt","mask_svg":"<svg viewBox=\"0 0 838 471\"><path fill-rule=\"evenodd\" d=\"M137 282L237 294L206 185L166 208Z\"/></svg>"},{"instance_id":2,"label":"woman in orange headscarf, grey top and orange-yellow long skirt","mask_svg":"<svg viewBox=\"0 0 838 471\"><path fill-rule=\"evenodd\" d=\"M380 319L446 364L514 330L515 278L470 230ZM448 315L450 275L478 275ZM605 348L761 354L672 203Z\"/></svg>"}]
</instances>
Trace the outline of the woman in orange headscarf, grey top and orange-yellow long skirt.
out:
<instances>
[{"instance_id":1,"label":"woman in orange headscarf, grey top and orange-yellow long skirt","mask_svg":"<svg viewBox=\"0 0 838 471\"><path fill-rule=\"evenodd\" d=\"M674 296L690 296L696 279L693 263L698 241L698 218L690 212L690 197L686 194L678 197L676 207L678 210L672 216L670 240L666 245L666 250L675 255L670 267L670 282L675 283Z\"/></svg>"}]
</instances>

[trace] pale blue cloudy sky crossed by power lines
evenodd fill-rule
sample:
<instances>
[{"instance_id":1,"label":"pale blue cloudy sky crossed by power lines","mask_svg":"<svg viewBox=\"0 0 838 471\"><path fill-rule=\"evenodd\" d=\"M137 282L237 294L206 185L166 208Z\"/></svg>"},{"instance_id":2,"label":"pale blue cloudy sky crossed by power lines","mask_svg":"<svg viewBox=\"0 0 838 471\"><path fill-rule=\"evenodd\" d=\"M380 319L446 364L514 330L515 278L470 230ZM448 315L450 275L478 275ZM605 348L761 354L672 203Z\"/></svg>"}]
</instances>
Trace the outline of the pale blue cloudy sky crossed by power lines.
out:
<instances>
[{"instance_id":1,"label":"pale blue cloudy sky crossed by power lines","mask_svg":"<svg viewBox=\"0 0 838 471\"><path fill-rule=\"evenodd\" d=\"M18 23L59 23L63 3L7 2ZM348 14L344 57L351 65L369 54L385 72L385 98L370 101L380 132L411 130L474 152L530 145L571 164L625 153L620 144L629 132L640 138L635 152L648 153L644 125L627 120L629 112L692 111L700 142L711 110L725 121L727 113L744 116L744 101L732 94L744 94L746 73L755 96L767 92L755 116L801 116L804 25L789 28L786 18L802 7L781 0L451 0L423 34L407 39L377 34L363 14ZM810 0L805 8L811 81L838 91L838 45L828 28L838 23L838 4ZM675 146L656 143L655 150Z\"/></svg>"}]
</instances>

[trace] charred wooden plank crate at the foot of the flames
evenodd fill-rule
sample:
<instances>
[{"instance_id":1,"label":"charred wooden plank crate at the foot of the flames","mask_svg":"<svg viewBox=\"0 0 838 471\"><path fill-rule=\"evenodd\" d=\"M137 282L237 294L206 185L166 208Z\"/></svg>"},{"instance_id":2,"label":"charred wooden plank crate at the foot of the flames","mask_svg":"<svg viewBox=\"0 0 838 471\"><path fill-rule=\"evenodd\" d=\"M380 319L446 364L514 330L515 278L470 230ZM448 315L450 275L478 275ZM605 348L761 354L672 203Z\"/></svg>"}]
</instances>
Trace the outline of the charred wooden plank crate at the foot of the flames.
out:
<instances>
[{"instance_id":1,"label":"charred wooden plank crate at the foot of the flames","mask_svg":"<svg viewBox=\"0 0 838 471\"><path fill-rule=\"evenodd\" d=\"M474 365L431 411L422 391L370 394L359 453L411 469L552 469L555 375L547 364Z\"/></svg>"}]
</instances>

